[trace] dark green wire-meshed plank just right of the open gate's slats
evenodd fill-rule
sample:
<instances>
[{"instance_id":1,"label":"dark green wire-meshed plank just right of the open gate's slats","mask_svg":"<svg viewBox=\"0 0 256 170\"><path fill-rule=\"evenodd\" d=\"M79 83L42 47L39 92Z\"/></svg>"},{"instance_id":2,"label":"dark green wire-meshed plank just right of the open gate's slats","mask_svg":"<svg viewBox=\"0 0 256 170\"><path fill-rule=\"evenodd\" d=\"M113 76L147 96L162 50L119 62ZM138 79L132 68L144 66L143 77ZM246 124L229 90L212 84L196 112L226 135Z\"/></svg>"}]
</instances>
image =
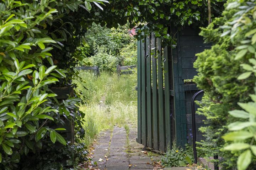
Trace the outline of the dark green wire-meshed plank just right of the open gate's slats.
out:
<instances>
[{"instance_id":1,"label":"dark green wire-meshed plank just right of the open gate's slats","mask_svg":"<svg viewBox=\"0 0 256 170\"><path fill-rule=\"evenodd\" d=\"M176 32L172 27L172 32ZM185 106L185 89L182 80L182 61L179 36L177 32L177 46L172 50L172 70L174 78L174 111L175 111L175 129L177 146L182 146L187 143L187 124L186 124L186 106Z\"/></svg>"}]
</instances>

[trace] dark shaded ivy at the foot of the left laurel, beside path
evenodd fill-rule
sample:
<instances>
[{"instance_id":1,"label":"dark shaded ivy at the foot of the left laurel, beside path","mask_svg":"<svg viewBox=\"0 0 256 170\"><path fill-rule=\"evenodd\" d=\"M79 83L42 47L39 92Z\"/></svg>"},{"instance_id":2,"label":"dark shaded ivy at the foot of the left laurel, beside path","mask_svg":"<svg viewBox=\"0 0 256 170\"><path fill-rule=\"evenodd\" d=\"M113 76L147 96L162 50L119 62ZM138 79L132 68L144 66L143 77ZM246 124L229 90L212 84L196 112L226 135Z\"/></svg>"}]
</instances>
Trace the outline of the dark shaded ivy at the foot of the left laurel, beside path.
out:
<instances>
[{"instance_id":1,"label":"dark shaded ivy at the foot of the left laurel, beside path","mask_svg":"<svg viewBox=\"0 0 256 170\"><path fill-rule=\"evenodd\" d=\"M49 170L76 168L87 161L86 146L84 143L57 146L51 142L45 143L40 152L29 153L24 156L19 167L22 170Z\"/></svg>"}]
</instances>

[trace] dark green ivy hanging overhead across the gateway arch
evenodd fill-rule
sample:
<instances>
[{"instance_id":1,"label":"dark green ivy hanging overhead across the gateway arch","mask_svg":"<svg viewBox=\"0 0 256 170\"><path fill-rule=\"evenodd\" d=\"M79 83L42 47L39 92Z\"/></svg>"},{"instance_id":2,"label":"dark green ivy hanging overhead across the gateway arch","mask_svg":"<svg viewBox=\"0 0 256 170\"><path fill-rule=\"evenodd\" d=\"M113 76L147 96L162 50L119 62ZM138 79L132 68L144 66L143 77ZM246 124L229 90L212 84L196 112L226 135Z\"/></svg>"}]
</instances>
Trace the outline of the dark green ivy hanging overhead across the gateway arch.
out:
<instances>
[{"instance_id":1,"label":"dark green ivy hanging overhead across the gateway arch","mask_svg":"<svg viewBox=\"0 0 256 170\"><path fill-rule=\"evenodd\" d=\"M194 24L195 26L206 25L208 19L208 3L202 0L110 0L104 11L97 8L91 10L94 13L94 21L107 24L107 27L117 28L118 24L124 25L127 20L130 27L137 26L137 37L144 31L146 34L155 32L157 37L171 39L168 27L172 23L176 27ZM211 1L212 17L219 16L223 10L223 2ZM143 27L144 23L147 27Z\"/></svg>"}]
</instances>

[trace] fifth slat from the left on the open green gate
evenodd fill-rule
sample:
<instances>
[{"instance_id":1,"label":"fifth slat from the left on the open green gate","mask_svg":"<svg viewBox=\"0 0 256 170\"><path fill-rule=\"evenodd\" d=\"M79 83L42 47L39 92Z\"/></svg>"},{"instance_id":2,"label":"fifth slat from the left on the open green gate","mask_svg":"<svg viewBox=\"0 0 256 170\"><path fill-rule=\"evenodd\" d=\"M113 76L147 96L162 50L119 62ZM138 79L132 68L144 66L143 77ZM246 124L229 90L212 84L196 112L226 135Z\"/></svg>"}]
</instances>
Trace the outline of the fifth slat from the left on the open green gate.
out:
<instances>
[{"instance_id":1,"label":"fifth slat from the left on the open green gate","mask_svg":"<svg viewBox=\"0 0 256 170\"><path fill-rule=\"evenodd\" d=\"M162 72L161 39L157 39L158 50L158 103L159 103L159 149L165 151L164 87Z\"/></svg>"}]
</instances>

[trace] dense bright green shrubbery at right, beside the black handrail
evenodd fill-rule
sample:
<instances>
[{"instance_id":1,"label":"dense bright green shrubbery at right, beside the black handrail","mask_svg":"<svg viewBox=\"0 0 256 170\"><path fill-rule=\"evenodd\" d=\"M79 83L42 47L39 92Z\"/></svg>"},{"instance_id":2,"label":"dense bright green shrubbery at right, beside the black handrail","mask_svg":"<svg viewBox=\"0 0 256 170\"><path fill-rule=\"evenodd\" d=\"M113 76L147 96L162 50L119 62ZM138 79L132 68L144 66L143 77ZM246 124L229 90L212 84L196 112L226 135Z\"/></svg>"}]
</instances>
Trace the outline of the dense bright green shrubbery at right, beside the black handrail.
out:
<instances>
[{"instance_id":1,"label":"dense bright green shrubbery at right, beside the black handrail","mask_svg":"<svg viewBox=\"0 0 256 170\"><path fill-rule=\"evenodd\" d=\"M256 78L251 74L253 72L251 64L256 62L254 59L255 41L252 38L256 26L254 17L255 2L243 1L239 3L228 1L225 6L223 17L216 18L207 28L202 28L201 35L204 36L205 41L212 42L214 45L211 49L197 55L198 59L194 63L194 67L198 69L199 75L194 77L194 80L198 87L205 91L201 109L199 109L199 114L207 117L206 124L208 125L201 128L201 131L206 133L206 139L201 142L202 148L207 150L210 155L219 154L223 157L223 169L235 169L238 156L242 152L223 151L221 148L226 144L221 136L228 129L232 130L230 128L231 125L240 126L239 122L227 126L229 123L245 121L245 119L239 119L242 114L240 117L236 116L234 118L229 116L228 111L240 109L241 107L245 109L245 107L237 103L251 101L249 94L254 94ZM246 73L245 70L247 70ZM250 111L248 109L246 109L247 112L252 112L256 108L252 107ZM255 118L250 120L253 122ZM250 123L245 124L250 126ZM256 125L252 125L248 129L246 128L247 126L244 127L244 130L256 129ZM236 130L243 129L240 128ZM229 140L227 139L227 141ZM246 142L247 140L238 139L234 141ZM255 141L248 140L247 142L250 145L255 144ZM245 147L244 149L247 148ZM249 149L246 150L244 155L248 156L249 152ZM255 156L250 155L250 157L255 159ZM249 156L245 159L251 160ZM237 163L239 164L239 162ZM255 166L255 161L252 161L248 169L253 169ZM246 169L246 166L241 168L240 163L239 169Z\"/></svg>"}]
</instances>

